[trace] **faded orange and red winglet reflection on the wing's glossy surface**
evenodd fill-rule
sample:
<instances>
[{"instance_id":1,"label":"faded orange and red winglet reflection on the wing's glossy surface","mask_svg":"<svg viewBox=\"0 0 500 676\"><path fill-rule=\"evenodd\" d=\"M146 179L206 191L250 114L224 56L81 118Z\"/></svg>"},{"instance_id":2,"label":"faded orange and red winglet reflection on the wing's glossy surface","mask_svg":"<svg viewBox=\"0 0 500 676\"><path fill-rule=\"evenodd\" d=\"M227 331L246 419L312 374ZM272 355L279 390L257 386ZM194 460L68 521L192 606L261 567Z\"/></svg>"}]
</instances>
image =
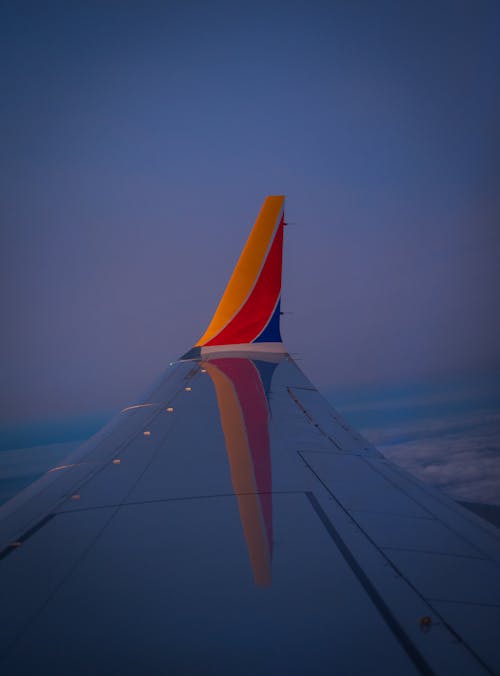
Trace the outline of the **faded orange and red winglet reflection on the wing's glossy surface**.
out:
<instances>
[{"instance_id":1,"label":"faded orange and red winglet reflection on the wing's glossy surface","mask_svg":"<svg viewBox=\"0 0 500 676\"><path fill-rule=\"evenodd\" d=\"M203 362L215 385L231 480L255 583L271 584L272 473L266 376L275 364L244 358ZM269 374L269 367L271 373Z\"/></svg>"}]
</instances>

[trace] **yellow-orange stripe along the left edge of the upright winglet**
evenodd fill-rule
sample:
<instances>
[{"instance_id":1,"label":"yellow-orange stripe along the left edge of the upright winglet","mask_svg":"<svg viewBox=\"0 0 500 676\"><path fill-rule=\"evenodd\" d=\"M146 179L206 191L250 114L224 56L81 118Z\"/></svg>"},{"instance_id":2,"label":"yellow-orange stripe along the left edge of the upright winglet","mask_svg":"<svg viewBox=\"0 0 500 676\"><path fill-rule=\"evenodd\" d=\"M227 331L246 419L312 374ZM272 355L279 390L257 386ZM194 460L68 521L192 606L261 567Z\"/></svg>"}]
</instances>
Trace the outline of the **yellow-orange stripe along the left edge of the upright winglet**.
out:
<instances>
[{"instance_id":1,"label":"yellow-orange stripe along the left edge of the upright winglet","mask_svg":"<svg viewBox=\"0 0 500 676\"><path fill-rule=\"evenodd\" d=\"M212 340L236 315L252 290L269 249L284 195L266 197L207 330L195 347Z\"/></svg>"}]
</instances>

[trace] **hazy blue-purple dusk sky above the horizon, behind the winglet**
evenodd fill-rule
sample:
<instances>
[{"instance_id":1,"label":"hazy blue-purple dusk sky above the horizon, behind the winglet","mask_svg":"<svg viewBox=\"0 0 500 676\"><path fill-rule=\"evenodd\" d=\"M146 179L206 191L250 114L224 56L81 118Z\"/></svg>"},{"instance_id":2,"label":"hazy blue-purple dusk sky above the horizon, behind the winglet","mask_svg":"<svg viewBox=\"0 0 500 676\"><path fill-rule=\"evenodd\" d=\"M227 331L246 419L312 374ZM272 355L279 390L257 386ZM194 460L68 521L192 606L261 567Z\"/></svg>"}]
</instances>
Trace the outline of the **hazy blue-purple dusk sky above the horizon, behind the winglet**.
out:
<instances>
[{"instance_id":1,"label":"hazy blue-purple dusk sky above the horizon, behind the winglet","mask_svg":"<svg viewBox=\"0 0 500 676\"><path fill-rule=\"evenodd\" d=\"M500 372L499 30L472 0L2 3L0 426L137 400L268 194L316 385Z\"/></svg>"}]
</instances>

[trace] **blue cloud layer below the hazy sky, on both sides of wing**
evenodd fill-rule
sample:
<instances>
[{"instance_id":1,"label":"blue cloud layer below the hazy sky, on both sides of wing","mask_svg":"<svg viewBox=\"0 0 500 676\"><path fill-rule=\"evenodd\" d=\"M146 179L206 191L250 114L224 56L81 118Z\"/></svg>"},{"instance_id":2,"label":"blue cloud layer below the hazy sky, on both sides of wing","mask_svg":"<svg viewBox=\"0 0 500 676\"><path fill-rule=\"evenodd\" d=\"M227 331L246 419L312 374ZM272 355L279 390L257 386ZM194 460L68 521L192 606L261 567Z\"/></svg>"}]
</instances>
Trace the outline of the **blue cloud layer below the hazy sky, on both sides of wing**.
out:
<instances>
[{"instance_id":1,"label":"blue cloud layer below the hazy sky, on both sides of wing","mask_svg":"<svg viewBox=\"0 0 500 676\"><path fill-rule=\"evenodd\" d=\"M482 374L322 393L354 429L417 478L455 500L500 506L500 379ZM0 427L0 504L118 412Z\"/></svg>"}]
</instances>

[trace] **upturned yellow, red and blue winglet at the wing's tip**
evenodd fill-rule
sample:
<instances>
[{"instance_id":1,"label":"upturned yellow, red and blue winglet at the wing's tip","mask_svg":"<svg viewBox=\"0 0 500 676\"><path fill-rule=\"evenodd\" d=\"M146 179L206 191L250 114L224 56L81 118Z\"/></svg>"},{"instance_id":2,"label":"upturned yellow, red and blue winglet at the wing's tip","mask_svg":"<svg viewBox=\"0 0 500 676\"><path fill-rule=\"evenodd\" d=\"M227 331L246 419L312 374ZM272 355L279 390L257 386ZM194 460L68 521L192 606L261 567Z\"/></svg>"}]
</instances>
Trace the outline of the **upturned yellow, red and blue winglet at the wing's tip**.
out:
<instances>
[{"instance_id":1,"label":"upturned yellow, red and blue winglet at the wing's tip","mask_svg":"<svg viewBox=\"0 0 500 676\"><path fill-rule=\"evenodd\" d=\"M183 359L221 351L285 352L280 334L283 195L266 197L207 330Z\"/></svg>"}]
</instances>

